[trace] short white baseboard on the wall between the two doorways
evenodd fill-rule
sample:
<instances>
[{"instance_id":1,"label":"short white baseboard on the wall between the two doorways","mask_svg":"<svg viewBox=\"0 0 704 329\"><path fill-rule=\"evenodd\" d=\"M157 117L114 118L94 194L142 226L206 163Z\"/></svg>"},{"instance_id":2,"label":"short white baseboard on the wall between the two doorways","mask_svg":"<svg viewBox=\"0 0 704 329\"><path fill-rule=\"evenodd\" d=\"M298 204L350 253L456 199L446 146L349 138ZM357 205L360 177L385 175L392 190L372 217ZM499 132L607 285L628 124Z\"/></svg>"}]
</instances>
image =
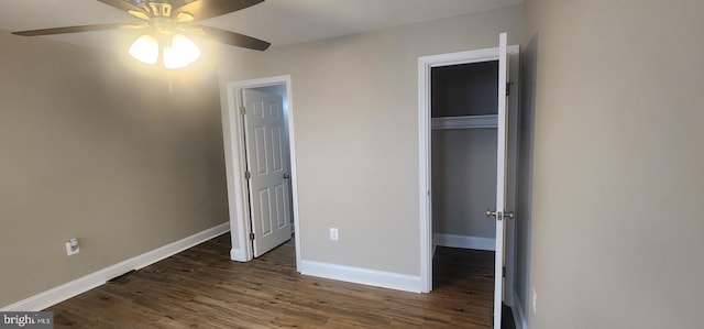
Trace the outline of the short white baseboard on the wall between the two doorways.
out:
<instances>
[{"instance_id":1,"label":"short white baseboard on the wall between the two doorways","mask_svg":"<svg viewBox=\"0 0 704 329\"><path fill-rule=\"evenodd\" d=\"M411 293L422 292L420 276L311 261L301 261L298 271L304 275Z\"/></svg>"}]
</instances>

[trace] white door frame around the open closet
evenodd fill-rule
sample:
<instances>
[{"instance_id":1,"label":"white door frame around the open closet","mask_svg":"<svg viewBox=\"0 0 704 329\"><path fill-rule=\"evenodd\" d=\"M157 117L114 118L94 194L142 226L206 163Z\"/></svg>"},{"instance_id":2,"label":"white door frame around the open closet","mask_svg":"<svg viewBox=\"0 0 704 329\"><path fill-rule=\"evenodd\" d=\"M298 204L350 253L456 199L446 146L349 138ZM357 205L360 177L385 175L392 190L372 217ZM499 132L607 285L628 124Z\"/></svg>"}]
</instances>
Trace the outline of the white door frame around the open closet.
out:
<instances>
[{"instance_id":1,"label":"white door frame around the open closet","mask_svg":"<svg viewBox=\"0 0 704 329\"><path fill-rule=\"evenodd\" d=\"M508 54L517 55L518 46L512 45L508 46ZM513 57L513 56L512 56ZM420 281L421 281L421 292L429 293L432 290L432 254L435 250L433 244L433 232L432 232L432 199L431 199L431 174L430 174L430 163L432 160L432 150L431 150L431 119L430 119L430 69L432 67L440 66L449 66L449 65L458 65L458 64L466 64L466 63L476 63L476 62L487 62L487 61L498 61L498 47L494 48L484 48L476 51L465 51L465 52L457 52L457 53L448 53L448 54L438 54L430 56L418 57L418 172L419 172L419 213L420 213ZM517 70L517 65L514 67L514 61L512 62L512 69ZM517 72L513 72L512 81L517 83L518 79L514 79L515 74ZM515 88L517 89L517 88ZM518 92L512 94L512 107L516 106L517 102L514 101L514 98L517 99ZM510 128L509 128L510 129ZM514 131L516 132L516 131ZM515 177L509 175L510 177ZM487 205L490 206L490 205ZM493 205L491 205L493 206ZM510 229L509 229L510 231ZM507 232L508 239L513 238L513 232ZM512 255L513 257L513 255ZM508 261L507 261L508 262ZM513 260L510 260L513 262ZM512 272L513 264L510 267L507 265L507 272ZM513 292L514 292L514 279L512 277L506 279L506 288L509 294L507 294L507 299L513 300ZM510 300L509 305L510 305Z\"/></svg>"}]
</instances>

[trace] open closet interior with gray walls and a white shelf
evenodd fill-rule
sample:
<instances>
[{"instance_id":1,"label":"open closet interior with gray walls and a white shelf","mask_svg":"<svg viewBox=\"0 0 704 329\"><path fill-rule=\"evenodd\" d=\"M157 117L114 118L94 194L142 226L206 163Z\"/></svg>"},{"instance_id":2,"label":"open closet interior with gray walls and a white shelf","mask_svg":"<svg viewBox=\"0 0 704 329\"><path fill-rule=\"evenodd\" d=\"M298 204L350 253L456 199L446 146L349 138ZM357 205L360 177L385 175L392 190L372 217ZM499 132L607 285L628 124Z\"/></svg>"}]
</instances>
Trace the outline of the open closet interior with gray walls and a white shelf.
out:
<instances>
[{"instance_id":1,"label":"open closet interior with gray walls and a white shelf","mask_svg":"<svg viewBox=\"0 0 704 329\"><path fill-rule=\"evenodd\" d=\"M432 67L430 83L436 244L494 250L498 61Z\"/></svg>"}]
</instances>

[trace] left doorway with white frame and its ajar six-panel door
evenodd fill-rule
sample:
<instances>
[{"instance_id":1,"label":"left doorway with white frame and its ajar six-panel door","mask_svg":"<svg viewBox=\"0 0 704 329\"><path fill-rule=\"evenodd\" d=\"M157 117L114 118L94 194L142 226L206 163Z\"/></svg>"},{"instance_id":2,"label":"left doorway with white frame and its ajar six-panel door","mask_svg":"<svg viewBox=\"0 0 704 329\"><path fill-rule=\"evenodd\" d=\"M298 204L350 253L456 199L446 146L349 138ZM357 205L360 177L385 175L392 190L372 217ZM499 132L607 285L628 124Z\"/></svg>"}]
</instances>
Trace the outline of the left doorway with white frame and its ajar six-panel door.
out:
<instances>
[{"instance_id":1,"label":"left doorway with white frame and its ajar six-panel door","mask_svg":"<svg viewBox=\"0 0 704 329\"><path fill-rule=\"evenodd\" d=\"M296 156L290 76L229 83L222 124L233 261L296 239Z\"/></svg>"}]
</instances>

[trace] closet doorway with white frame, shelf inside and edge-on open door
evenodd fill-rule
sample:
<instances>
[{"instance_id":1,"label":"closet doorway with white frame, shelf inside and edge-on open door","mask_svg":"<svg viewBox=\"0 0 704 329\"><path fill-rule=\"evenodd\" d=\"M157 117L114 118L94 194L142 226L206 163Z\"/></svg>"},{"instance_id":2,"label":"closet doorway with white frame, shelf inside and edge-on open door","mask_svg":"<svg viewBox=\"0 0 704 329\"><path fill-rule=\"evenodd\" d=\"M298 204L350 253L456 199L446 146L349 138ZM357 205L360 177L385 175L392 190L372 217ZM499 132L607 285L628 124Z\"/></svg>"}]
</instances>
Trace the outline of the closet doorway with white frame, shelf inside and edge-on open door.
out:
<instances>
[{"instance_id":1,"label":"closet doorway with white frame, shelf inside and edge-on open door","mask_svg":"<svg viewBox=\"0 0 704 329\"><path fill-rule=\"evenodd\" d=\"M495 251L495 328L515 296L518 46L506 40L418 61L424 290L437 245Z\"/></svg>"}]
</instances>

